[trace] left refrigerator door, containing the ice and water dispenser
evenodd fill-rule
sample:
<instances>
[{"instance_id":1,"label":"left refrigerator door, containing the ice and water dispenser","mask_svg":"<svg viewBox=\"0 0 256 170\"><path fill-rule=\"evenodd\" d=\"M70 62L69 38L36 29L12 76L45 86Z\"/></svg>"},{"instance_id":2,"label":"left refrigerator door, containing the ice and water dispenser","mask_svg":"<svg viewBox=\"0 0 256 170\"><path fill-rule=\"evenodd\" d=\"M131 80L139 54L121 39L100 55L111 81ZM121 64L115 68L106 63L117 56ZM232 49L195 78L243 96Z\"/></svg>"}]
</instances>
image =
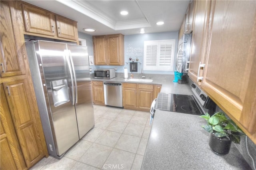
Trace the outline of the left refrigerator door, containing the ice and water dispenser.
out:
<instances>
[{"instance_id":1,"label":"left refrigerator door, containing the ice and water dispenser","mask_svg":"<svg viewBox=\"0 0 256 170\"><path fill-rule=\"evenodd\" d=\"M47 88L46 103L50 106L48 114L56 154L60 156L79 140L76 112L72 105L72 73L64 51L65 43L38 41L38 45L38 62L42 64L42 80ZM63 101L56 105L56 99Z\"/></svg>"}]
</instances>

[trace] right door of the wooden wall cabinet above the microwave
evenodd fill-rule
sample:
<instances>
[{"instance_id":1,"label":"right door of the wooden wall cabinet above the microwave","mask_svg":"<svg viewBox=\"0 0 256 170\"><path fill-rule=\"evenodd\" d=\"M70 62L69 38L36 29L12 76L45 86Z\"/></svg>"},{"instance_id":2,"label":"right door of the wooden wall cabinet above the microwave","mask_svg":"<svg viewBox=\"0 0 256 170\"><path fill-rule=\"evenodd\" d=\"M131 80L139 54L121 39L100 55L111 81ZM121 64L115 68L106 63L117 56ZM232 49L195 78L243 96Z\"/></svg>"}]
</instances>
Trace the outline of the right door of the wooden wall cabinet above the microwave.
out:
<instances>
[{"instance_id":1,"label":"right door of the wooden wall cabinet above the microwave","mask_svg":"<svg viewBox=\"0 0 256 170\"><path fill-rule=\"evenodd\" d=\"M124 36L108 35L108 65L124 65Z\"/></svg>"}]
</instances>

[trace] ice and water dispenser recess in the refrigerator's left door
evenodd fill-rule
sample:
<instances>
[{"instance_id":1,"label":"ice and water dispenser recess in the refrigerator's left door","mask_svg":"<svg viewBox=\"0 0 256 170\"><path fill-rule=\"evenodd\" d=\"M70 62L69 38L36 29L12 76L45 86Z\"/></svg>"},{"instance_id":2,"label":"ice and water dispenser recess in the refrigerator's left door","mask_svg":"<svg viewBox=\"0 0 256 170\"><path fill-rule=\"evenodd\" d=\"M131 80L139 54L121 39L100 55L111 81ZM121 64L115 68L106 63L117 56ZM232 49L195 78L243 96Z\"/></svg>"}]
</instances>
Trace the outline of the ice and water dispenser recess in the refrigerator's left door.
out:
<instances>
[{"instance_id":1,"label":"ice and water dispenser recess in the refrigerator's left door","mask_svg":"<svg viewBox=\"0 0 256 170\"><path fill-rule=\"evenodd\" d=\"M55 80L51 81L50 83L55 107L70 101L68 94L68 83L66 79Z\"/></svg>"}]
</instances>

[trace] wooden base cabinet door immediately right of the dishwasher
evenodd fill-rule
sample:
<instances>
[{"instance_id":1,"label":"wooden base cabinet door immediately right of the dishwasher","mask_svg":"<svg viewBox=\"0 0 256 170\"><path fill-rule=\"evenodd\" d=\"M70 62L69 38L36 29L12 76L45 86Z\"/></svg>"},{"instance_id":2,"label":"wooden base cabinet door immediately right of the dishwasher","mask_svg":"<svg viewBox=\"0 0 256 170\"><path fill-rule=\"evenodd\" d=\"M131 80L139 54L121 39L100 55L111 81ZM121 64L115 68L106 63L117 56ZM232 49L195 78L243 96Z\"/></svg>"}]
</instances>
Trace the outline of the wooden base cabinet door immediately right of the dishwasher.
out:
<instances>
[{"instance_id":1,"label":"wooden base cabinet door immediately right of the dishwasher","mask_svg":"<svg viewBox=\"0 0 256 170\"><path fill-rule=\"evenodd\" d=\"M136 109L137 93L136 84L123 83L123 107L126 109Z\"/></svg>"}]
</instances>

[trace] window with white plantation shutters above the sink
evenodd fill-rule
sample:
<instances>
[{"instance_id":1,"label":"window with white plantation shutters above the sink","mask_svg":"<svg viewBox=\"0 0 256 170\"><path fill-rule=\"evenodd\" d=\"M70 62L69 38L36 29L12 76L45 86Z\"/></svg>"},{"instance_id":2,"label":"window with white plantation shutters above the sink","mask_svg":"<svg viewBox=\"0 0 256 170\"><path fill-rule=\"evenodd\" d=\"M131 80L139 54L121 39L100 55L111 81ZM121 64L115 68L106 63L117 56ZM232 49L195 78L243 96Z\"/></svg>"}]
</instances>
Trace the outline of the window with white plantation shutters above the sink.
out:
<instances>
[{"instance_id":1,"label":"window with white plantation shutters above the sink","mask_svg":"<svg viewBox=\"0 0 256 170\"><path fill-rule=\"evenodd\" d=\"M145 41L144 70L173 71L175 40Z\"/></svg>"}]
</instances>

